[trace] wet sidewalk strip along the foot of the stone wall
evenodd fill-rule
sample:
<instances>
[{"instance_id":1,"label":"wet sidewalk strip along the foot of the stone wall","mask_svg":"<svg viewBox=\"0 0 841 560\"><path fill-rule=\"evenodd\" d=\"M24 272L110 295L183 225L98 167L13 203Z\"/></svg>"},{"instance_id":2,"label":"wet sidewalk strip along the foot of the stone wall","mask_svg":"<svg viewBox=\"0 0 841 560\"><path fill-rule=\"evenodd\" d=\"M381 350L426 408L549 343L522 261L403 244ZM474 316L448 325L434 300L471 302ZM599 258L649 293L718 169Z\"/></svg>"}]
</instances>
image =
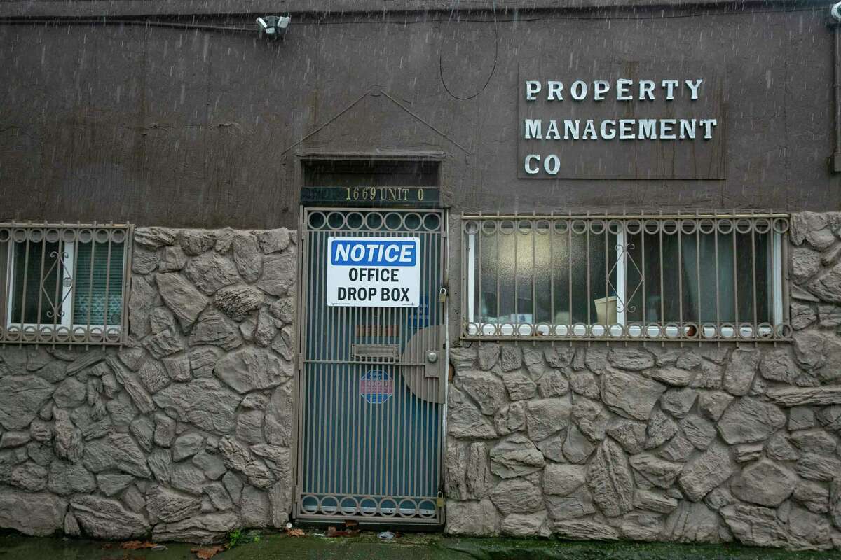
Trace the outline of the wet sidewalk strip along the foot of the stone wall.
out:
<instances>
[{"instance_id":1,"label":"wet sidewalk strip along the foot of the stone wall","mask_svg":"<svg viewBox=\"0 0 841 560\"><path fill-rule=\"evenodd\" d=\"M313 531L315 533L315 531ZM255 538L257 537L257 538ZM117 542L0 535L0 558L14 560L187 560L196 545L167 543L166 550L124 550ZM375 533L327 538L250 533L214 560L829 560L841 552L788 552L727 545L632 542L563 542L504 538L458 539L437 534L398 536L381 542Z\"/></svg>"}]
</instances>

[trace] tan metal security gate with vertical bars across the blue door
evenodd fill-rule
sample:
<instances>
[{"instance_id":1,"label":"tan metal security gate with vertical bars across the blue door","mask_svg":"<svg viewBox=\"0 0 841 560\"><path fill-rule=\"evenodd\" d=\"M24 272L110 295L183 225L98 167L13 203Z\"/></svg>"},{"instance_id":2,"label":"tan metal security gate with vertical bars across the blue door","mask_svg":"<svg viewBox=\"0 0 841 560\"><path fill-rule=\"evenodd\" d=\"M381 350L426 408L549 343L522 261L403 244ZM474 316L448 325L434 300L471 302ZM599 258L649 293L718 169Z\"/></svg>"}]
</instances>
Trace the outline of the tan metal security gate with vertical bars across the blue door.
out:
<instances>
[{"instance_id":1,"label":"tan metal security gate with vertical bars across the blue door","mask_svg":"<svg viewBox=\"0 0 841 560\"><path fill-rule=\"evenodd\" d=\"M302 212L298 519L443 522L445 218ZM420 305L327 306L331 237L420 238Z\"/></svg>"}]
</instances>

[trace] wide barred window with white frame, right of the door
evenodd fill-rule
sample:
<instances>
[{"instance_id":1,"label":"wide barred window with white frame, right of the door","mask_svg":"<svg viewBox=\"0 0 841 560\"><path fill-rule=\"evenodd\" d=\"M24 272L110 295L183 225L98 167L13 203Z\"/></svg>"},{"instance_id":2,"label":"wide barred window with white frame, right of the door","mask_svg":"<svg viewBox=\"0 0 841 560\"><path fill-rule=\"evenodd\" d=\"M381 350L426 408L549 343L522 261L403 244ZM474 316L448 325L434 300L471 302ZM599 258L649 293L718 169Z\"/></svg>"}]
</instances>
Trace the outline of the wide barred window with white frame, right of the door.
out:
<instances>
[{"instance_id":1,"label":"wide barred window with white frame, right of the door","mask_svg":"<svg viewBox=\"0 0 841 560\"><path fill-rule=\"evenodd\" d=\"M780 340L782 214L463 217L463 338Z\"/></svg>"}]
</instances>

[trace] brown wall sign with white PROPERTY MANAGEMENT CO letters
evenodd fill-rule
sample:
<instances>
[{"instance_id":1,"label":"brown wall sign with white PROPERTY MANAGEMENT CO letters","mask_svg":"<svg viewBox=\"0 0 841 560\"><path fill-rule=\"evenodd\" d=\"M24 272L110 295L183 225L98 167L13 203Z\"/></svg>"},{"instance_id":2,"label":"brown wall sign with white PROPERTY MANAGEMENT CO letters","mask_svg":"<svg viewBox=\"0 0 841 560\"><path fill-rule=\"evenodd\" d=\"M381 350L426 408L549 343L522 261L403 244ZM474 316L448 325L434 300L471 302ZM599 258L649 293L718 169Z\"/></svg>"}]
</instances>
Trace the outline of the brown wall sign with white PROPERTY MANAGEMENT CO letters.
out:
<instances>
[{"instance_id":1,"label":"brown wall sign with white PROPERTY MANAGEMENT CO letters","mask_svg":"<svg viewBox=\"0 0 841 560\"><path fill-rule=\"evenodd\" d=\"M726 178L720 67L551 56L520 69L518 178Z\"/></svg>"}]
</instances>

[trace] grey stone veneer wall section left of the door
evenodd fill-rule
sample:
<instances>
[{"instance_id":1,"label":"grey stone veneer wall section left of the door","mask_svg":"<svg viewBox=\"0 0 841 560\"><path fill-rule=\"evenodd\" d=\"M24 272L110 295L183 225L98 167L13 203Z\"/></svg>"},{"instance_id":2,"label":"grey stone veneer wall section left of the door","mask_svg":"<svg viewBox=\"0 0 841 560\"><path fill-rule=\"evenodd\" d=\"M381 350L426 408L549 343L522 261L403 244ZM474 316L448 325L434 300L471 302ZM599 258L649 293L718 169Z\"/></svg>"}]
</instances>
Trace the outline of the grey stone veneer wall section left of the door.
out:
<instances>
[{"instance_id":1,"label":"grey stone veneer wall section left of the door","mask_svg":"<svg viewBox=\"0 0 841 560\"><path fill-rule=\"evenodd\" d=\"M135 230L126 348L0 347L0 526L210 542L292 507L296 238Z\"/></svg>"}]
</instances>

